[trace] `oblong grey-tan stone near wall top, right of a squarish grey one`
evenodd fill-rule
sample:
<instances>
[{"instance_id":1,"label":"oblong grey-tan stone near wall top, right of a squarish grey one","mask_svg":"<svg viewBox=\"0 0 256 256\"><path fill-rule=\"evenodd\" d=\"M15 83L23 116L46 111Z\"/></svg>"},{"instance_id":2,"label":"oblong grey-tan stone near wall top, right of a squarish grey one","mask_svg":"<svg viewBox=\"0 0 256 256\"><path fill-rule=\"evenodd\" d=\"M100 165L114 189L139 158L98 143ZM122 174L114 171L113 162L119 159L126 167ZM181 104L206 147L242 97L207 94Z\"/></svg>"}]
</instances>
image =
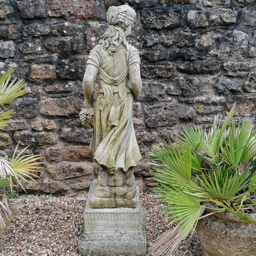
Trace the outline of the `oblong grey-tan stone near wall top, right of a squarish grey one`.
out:
<instances>
[{"instance_id":1,"label":"oblong grey-tan stone near wall top, right of a squarish grey one","mask_svg":"<svg viewBox=\"0 0 256 256\"><path fill-rule=\"evenodd\" d=\"M237 22L237 11L224 8L214 8L209 13L210 25L231 24Z\"/></svg>"}]
</instances>

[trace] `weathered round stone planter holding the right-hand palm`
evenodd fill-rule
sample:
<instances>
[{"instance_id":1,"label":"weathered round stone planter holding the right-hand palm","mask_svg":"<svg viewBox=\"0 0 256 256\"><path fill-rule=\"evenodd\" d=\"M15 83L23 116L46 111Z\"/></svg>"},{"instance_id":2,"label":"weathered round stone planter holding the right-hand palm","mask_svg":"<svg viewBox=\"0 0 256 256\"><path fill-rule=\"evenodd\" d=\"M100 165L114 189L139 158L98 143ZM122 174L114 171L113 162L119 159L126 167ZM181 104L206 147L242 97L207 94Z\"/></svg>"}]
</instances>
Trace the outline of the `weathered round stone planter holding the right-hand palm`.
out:
<instances>
[{"instance_id":1,"label":"weathered round stone planter holding the right-hand palm","mask_svg":"<svg viewBox=\"0 0 256 256\"><path fill-rule=\"evenodd\" d=\"M211 211L206 209L205 214ZM256 214L251 216L256 220ZM200 219L196 230L203 256L256 255L256 224L242 221L227 211Z\"/></svg>"}]
</instances>

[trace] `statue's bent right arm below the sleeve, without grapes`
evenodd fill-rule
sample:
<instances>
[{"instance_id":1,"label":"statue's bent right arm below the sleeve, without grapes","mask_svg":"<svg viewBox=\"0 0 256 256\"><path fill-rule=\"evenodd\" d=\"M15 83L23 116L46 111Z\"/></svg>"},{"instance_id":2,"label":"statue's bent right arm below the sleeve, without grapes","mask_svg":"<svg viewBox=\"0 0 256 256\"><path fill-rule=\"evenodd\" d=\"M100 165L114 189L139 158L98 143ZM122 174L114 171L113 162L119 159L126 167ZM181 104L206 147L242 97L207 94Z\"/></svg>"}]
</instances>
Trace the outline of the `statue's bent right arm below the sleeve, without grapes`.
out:
<instances>
[{"instance_id":1,"label":"statue's bent right arm below the sleeve, without grapes","mask_svg":"<svg viewBox=\"0 0 256 256\"><path fill-rule=\"evenodd\" d=\"M129 66L129 77L131 81L131 89L135 99L138 99L141 92L140 65L135 62Z\"/></svg>"}]
</instances>

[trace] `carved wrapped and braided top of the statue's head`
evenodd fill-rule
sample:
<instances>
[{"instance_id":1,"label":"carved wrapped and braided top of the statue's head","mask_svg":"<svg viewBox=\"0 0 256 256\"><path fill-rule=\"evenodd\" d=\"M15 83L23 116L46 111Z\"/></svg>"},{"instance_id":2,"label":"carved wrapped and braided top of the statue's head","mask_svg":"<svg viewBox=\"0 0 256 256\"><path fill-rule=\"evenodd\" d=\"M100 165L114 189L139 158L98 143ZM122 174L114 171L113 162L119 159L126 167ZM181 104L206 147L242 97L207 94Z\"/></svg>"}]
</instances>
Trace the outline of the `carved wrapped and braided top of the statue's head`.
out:
<instances>
[{"instance_id":1,"label":"carved wrapped and braided top of the statue's head","mask_svg":"<svg viewBox=\"0 0 256 256\"><path fill-rule=\"evenodd\" d=\"M106 20L110 25L117 25L124 29L133 24L136 12L129 5L112 6L106 13Z\"/></svg>"}]
</instances>

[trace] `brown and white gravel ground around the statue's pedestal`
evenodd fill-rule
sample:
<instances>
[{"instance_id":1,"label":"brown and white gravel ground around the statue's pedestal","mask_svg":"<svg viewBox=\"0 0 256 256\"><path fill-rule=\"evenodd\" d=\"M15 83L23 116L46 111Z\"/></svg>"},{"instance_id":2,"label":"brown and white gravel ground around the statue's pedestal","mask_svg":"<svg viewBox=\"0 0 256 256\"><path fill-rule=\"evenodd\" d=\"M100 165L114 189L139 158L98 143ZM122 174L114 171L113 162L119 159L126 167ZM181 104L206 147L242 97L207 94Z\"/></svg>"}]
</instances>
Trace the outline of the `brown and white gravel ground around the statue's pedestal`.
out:
<instances>
[{"instance_id":1,"label":"brown and white gravel ground around the statue's pedestal","mask_svg":"<svg viewBox=\"0 0 256 256\"><path fill-rule=\"evenodd\" d=\"M77 242L81 231L87 194L72 196L26 195L10 199L17 208L16 218L1 237L3 256L78 256ZM168 222L161 215L163 205L151 193L140 195L146 212L147 245L167 230ZM150 256L150 254L146 254ZM169 256L201 256L196 233L182 241Z\"/></svg>"}]
</instances>

